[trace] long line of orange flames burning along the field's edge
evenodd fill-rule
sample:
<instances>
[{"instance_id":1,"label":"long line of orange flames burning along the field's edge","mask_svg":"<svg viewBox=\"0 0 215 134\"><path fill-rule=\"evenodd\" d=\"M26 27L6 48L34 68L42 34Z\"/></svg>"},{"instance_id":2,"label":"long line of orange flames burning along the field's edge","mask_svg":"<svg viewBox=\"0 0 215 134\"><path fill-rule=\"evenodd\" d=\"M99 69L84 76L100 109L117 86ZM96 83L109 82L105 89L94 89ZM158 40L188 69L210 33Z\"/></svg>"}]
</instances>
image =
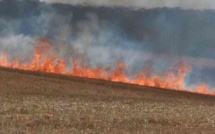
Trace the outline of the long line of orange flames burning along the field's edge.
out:
<instances>
[{"instance_id":1,"label":"long line of orange flames burning along the field's edge","mask_svg":"<svg viewBox=\"0 0 215 134\"><path fill-rule=\"evenodd\" d=\"M77 59L73 59L73 68L68 69L67 63L51 54L50 51L51 42L41 39L35 48L34 58L29 63L23 64L18 59L10 61L8 55L4 54L0 59L0 66L215 95L215 93L210 92L206 84L197 86L196 90L185 87L185 77L191 71L191 67L183 61L162 74L157 75L150 68L146 68L133 79L129 79L125 74L126 64L123 62L117 62L114 71L111 72L110 68L82 66Z\"/></svg>"}]
</instances>

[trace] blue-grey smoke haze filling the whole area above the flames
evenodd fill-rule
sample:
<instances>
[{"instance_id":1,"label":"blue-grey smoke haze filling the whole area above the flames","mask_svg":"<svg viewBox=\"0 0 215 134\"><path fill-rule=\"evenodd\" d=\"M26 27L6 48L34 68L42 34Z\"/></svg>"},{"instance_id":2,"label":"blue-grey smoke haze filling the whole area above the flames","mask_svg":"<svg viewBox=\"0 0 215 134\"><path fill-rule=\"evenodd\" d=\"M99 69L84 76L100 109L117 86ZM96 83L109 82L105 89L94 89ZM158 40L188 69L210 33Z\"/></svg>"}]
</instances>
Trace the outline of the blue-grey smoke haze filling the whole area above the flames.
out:
<instances>
[{"instance_id":1,"label":"blue-grey smoke haze filling the whole area above the flames","mask_svg":"<svg viewBox=\"0 0 215 134\"><path fill-rule=\"evenodd\" d=\"M160 73L182 59L193 68L188 86L214 87L215 11L204 10L214 7L213 0L1 1L0 52L27 62L46 38L70 66L72 57L92 67L123 61L128 75L143 67Z\"/></svg>"}]
</instances>

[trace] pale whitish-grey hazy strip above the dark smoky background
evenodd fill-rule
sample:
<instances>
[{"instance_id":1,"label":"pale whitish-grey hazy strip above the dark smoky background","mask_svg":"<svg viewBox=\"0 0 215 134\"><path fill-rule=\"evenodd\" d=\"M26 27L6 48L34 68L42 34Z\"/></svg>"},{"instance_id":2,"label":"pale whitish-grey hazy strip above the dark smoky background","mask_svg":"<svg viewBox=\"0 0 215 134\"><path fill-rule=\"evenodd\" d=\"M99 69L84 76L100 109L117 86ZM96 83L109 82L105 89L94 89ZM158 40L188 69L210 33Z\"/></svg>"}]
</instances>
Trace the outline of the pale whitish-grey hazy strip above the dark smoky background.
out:
<instances>
[{"instance_id":1,"label":"pale whitish-grey hazy strip above the dark smoky background","mask_svg":"<svg viewBox=\"0 0 215 134\"><path fill-rule=\"evenodd\" d=\"M215 9L215 0L40 0L40 2L107 7L119 6L137 9L161 7L180 7L194 10Z\"/></svg>"}]
</instances>

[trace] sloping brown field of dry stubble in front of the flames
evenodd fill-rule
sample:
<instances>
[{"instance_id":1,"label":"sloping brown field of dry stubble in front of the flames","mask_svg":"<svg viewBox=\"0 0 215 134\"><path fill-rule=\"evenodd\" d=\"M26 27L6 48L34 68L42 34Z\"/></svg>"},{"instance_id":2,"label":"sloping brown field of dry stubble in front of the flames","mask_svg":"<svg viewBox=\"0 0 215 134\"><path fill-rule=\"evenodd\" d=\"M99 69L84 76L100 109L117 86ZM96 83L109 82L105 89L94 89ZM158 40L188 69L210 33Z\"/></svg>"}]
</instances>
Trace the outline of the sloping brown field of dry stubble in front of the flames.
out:
<instances>
[{"instance_id":1,"label":"sloping brown field of dry stubble in front of the flames","mask_svg":"<svg viewBox=\"0 0 215 134\"><path fill-rule=\"evenodd\" d=\"M215 97L0 69L0 133L215 133Z\"/></svg>"}]
</instances>

